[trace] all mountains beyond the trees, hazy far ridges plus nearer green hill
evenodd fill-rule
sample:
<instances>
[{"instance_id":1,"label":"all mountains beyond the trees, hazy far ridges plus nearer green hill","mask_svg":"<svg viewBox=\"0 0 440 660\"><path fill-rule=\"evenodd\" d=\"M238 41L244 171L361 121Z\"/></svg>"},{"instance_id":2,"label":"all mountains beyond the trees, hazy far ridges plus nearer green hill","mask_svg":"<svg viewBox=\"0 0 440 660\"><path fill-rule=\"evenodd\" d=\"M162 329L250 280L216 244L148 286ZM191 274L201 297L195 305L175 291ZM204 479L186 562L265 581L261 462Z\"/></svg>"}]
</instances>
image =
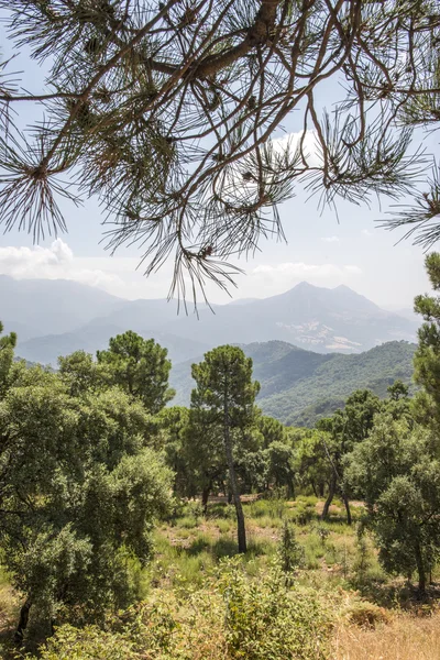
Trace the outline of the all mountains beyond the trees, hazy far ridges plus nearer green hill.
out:
<instances>
[{"instance_id":1,"label":"all mountains beyond the trees, hazy far ridges plus nearer green hill","mask_svg":"<svg viewBox=\"0 0 440 660\"><path fill-rule=\"evenodd\" d=\"M18 332L18 355L53 366L59 355L95 353L129 329L153 337L173 361L175 405L189 403L193 362L216 345L240 344L253 359L264 413L306 426L358 387L385 396L395 378L409 383L415 345L408 342L418 326L345 286L304 282L279 296L204 306L186 316L173 301L131 301L75 282L2 275L0 320Z\"/></svg>"}]
</instances>

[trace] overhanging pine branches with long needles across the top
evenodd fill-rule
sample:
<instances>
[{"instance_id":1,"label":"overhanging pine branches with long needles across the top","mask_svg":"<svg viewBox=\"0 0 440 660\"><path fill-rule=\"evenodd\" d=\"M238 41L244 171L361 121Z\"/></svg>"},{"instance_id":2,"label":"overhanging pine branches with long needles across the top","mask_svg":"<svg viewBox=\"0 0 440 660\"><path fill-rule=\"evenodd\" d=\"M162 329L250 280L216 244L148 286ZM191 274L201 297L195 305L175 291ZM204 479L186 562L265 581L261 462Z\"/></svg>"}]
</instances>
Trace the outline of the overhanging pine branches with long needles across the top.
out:
<instances>
[{"instance_id":1,"label":"overhanging pine branches with long needles across the top","mask_svg":"<svg viewBox=\"0 0 440 660\"><path fill-rule=\"evenodd\" d=\"M193 285L226 286L231 255L283 234L277 205L298 183L330 205L411 191L425 165L411 130L440 118L435 0L0 8L13 47L25 44L47 67L35 94L12 64L0 69L0 221L38 239L66 229L61 197L97 195L110 248L139 242L146 273L173 257L172 292L183 295L185 272ZM317 102L329 79L338 90L331 114ZM12 119L23 102L42 106L44 120L21 132ZM278 140L294 112L298 139ZM435 169L430 190L392 227L409 222L430 244L439 191Z\"/></svg>"}]
</instances>

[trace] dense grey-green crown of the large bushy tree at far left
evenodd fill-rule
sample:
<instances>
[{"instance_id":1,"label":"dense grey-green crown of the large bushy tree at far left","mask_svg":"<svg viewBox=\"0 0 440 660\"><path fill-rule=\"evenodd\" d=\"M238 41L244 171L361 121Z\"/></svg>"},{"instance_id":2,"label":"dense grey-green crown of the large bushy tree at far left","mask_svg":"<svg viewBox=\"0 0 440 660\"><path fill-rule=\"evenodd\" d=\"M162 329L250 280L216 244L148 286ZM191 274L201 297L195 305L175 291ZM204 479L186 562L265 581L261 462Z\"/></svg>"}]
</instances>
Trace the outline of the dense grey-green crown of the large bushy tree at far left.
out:
<instances>
[{"instance_id":1,"label":"dense grey-green crown of the large bushy tree at far left","mask_svg":"<svg viewBox=\"0 0 440 660\"><path fill-rule=\"evenodd\" d=\"M90 367L77 358L64 366ZM148 559L153 521L170 504L172 474L146 447L142 403L118 387L88 389L73 373L14 365L0 402L3 562L46 620L127 605L131 558Z\"/></svg>"}]
</instances>

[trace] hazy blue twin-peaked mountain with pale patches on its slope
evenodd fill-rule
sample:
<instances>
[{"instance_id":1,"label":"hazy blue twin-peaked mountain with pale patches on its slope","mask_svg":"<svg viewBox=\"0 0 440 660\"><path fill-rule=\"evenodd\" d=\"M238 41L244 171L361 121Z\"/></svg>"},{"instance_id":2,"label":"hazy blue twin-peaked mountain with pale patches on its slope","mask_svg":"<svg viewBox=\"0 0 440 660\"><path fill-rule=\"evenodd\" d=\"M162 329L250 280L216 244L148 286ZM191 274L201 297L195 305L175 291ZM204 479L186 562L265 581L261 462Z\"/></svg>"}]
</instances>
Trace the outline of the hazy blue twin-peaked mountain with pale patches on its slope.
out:
<instances>
[{"instance_id":1,"label":"hazy blue twin-peaked mountain with pale patches on its slope","mask_svg":"<svg viewBox=\"0 0 440 660\"><path fill-rule=\"evenodd\" d=\"M359 353L392 340L414 341L417 323L385 311L345 286L334 289L306 282L245 305L215 306L170 321L179 337L223 343L286 341L319 353Z\"/></svg>"}]
</instances>

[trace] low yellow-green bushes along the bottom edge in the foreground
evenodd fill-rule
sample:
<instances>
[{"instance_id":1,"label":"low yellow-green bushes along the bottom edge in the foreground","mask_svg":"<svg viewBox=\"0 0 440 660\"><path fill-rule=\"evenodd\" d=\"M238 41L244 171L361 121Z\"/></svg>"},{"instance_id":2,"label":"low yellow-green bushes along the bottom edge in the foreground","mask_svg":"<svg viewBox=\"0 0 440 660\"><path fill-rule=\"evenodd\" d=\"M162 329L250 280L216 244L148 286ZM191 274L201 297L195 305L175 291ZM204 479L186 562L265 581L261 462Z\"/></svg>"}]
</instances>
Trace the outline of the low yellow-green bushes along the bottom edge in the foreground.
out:
<instances>
[{"instance_id":1,"label":"low yellow-green bushes along the bottom edge in the foreground","mask_svg":"<svg viewBox=\"0 0 440 660\"><path fill-rule=\"evenodd\" d=\"M249 575L241 558L223 560L219 580L187 593L161 592L96 627L59 628L41 660L326 660L330 626L314 591L289 590L275 563ZM28 660L36 658L28 657Z\"/></svg>"}]
</instances>

